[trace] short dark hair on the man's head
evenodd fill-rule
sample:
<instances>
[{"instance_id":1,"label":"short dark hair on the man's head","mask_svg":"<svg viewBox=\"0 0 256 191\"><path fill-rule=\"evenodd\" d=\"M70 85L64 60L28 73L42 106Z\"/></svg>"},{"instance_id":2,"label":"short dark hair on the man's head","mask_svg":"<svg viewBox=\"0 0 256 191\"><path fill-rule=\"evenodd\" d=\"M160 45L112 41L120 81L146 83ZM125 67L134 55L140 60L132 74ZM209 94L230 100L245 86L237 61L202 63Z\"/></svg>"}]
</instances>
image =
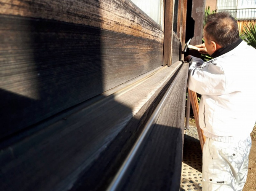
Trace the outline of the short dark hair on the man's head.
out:
<instances>
[{"instance_id":1,"label":"short dark hair on the man's head","mask_svg":"<svg viewBox=\"0 0 256 191\"><path fill-rule=\"evenodd\" d=\"M224 48L240 38L237 21L228 12L210 14L206 18L204 35L208 41L214 41Z\"/></svg>"}]
</instances>

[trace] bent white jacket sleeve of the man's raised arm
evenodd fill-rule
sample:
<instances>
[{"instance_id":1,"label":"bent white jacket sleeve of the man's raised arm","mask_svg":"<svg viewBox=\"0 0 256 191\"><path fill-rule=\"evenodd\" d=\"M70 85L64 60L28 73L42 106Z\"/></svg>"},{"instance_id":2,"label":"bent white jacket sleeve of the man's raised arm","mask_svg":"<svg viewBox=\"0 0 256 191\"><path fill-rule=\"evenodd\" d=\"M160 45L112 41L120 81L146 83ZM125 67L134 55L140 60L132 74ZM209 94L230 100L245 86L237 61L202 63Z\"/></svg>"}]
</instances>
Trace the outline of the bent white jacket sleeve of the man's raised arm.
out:
<instances>
[{"instance_id":1,"label":"bent white jacket sleeve of the man's raised arm","mask_svg":"<svg viewBox=\"0 0 256 191\"><path fill-rule=\"evenodd\" d=\"M188 74L188 89L203 95L222 95L225 89L225 75L222 67L213 62L203 62L192 57Z\"/></svg>"}]
</instances>

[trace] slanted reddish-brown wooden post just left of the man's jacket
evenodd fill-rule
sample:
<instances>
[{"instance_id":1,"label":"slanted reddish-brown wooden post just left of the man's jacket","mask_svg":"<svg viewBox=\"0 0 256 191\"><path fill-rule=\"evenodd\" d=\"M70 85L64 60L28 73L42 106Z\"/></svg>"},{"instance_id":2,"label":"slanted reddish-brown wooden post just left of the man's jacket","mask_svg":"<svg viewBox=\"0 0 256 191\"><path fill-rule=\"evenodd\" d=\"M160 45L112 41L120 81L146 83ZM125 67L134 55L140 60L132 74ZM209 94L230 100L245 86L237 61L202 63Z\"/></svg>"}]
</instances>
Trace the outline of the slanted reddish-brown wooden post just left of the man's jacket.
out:
<instances>
[{"instance_id":1,"label":"slanted reddish-brown wooden post just left of the man's jacket","mask_svg":"<svg viewBox=\"0 0 256 191\"><path fill-rule=\"evenodd\" d=\"M196 128L198 131L201 149L203 151L203 146L204 146L206 137L203 135L203 130L199 126L199 121L198 121L199 105L198 105L197 95L196 95L196 92L193 92L190 89L188 89L188 94L190 96L191 105L192 105L192 109L193 109L193 113L196 121Z\"/></svg>"}]
</instances>

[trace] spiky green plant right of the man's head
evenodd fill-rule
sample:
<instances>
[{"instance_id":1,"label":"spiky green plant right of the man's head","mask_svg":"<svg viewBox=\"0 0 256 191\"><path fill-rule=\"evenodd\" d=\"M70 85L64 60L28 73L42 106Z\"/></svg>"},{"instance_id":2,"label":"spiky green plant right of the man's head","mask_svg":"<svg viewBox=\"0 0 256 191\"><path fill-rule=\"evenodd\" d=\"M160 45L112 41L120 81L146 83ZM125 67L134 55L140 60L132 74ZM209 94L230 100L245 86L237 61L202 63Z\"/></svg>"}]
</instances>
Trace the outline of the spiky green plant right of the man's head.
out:
<instances>
[{"instance_id":1,"label":"spiky green plant right of the man's head","mask_svg":"<svg viewBox=\"0 0 256 191\"><path fill-rule=\"evenodd\" d=\"M256 24L251 24L249 25L246 24L244 27L243 32L240 34L240 37L246 41L246 43L253 48L256 48Z\"/></svg>"}]
</instances>

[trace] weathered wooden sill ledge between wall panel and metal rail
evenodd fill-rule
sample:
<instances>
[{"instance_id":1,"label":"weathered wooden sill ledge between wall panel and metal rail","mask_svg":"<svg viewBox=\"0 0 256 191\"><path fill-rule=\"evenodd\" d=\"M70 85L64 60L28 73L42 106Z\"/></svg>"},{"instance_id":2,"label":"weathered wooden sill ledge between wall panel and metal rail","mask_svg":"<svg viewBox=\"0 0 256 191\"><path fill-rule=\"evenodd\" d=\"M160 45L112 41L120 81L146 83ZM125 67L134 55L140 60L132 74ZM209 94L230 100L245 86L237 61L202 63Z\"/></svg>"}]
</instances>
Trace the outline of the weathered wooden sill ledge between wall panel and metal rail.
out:
<instances>
[{"instance_id":1,"label":"weathered wooden sill ledge between wall panel and metal rail","mask_svg":"<svg viewBox=\"0 0 256 191\"><path fill-rule=\"evenodd\" d=\"M0 190L69 190L80 173L88 170L96 159L100 165L93 171L96 177L95 173L87 174L90 177L84 181L89 185L87 188L93 183L102 183L104 178L111 178L102 175L108 172L113 162L111 160L115 160L116 155L124 158L126 153L122 152L123 145L138 127L134 123L147 120L149 108L153 108L152 104L158 104L159 93L179 66L163 67L116 94L2 150ZM132 121L129 127L134 131L124 128L129 121ZM117 142L109 148L109 143L121 131ZM109 158L101 157L103 151Z\"/></svg>"}]
</instances>

